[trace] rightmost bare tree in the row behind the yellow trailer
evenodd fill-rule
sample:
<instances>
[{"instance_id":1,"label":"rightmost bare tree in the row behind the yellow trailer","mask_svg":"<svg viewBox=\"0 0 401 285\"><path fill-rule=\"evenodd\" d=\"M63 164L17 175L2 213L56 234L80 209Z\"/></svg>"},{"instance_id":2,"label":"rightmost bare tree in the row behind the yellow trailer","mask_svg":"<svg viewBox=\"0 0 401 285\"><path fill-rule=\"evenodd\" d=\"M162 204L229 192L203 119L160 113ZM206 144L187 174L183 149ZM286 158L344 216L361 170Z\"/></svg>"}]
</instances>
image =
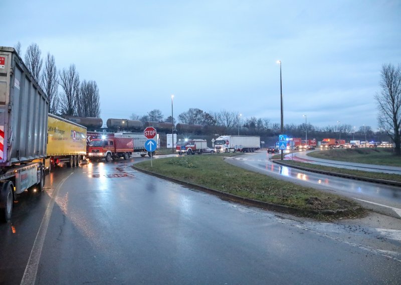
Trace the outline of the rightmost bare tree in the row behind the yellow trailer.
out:
<instances>
[{"instance_id":1,"label":"rightmost bare tree in the row behind the yellow trailer","mask_svg":"<svg viewBox=\"0 0 401 285\"><path fill-rule=\"evenodd\" d=\"M99 88L96 81L82 81L78 95L77 114L81 117L99 117Z\"/></svg>"}]
</instances>

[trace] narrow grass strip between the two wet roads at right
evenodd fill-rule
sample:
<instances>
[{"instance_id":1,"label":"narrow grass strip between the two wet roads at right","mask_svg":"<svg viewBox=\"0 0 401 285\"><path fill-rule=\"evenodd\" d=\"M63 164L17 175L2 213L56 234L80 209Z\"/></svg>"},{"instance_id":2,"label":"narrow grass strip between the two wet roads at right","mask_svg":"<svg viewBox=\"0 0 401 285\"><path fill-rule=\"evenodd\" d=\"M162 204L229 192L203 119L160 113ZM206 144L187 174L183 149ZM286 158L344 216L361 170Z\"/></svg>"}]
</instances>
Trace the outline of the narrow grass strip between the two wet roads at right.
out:
<instances>
[{"instance_id":1,"label":"narrow grass strip between the two wet roads at right","mask_svg":"<svg viewBox=\"0 0 401 285\"><path fill-rule=\"evenodd\" d=\"M315 165L315 164L297 162L297 161L292 161L292 160L283 160L283 161L280 161L280 163L283 163L283 164L286 164L289 166L297 166L297 167L313 169L313 170L322 170L322 171L327 171L330 173L347 174L347 175L352 175L352 176L356 176L356 177L360 177L360 178L383 179L383 180L401 182L401 175L398 175L398 174L387 174L387 173L378 173L378 172L369 172L369 171L360 171L360 170L350 170L350 169L345 169L345 168Z\"/></svg>"}]
</instances>

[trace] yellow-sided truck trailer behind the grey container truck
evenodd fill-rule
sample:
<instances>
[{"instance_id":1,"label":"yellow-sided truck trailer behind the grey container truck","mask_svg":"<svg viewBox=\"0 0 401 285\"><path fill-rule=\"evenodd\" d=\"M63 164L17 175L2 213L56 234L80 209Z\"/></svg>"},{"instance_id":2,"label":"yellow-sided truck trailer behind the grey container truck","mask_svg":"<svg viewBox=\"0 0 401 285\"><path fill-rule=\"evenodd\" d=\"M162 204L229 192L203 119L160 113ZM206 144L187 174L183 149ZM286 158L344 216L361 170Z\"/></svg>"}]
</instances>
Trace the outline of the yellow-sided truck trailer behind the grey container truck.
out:
<instances>
[{"instance_id":1,"label":"yellow-sided truck trailer behind the grey container truck","mask_svg":"<svg viewBox=\"0 0 401 285\"><path fill-rule=\"evenodd\" d=\"M47 159L45 168L51 172L52 168L60 164L67 167L78 167L86 156L86 127L48 114Z\"/></svg>"}]
</instances>

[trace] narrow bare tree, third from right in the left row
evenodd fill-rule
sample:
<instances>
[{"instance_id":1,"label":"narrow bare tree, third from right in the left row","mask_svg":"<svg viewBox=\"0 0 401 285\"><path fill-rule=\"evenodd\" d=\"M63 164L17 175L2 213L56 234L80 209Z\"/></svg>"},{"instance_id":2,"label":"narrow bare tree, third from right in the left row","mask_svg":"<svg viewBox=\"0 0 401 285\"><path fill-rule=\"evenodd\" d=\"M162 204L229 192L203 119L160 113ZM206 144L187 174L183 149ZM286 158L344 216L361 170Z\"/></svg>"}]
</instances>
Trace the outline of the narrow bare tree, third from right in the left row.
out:
<instances>
[{"instance_id":1,"label":"narrow bare tree, third from right in the left row","mask_svg":"<svg viewBox=\"0 0 401 285\"><path fill-rule=\"evenodd\" d=\"M57 67L54 56L47 53L45 70L42 73L42 88L49 98L49 113L56 114L59 109L59 82L57 80Z\"/></svg>"}]
</instances>

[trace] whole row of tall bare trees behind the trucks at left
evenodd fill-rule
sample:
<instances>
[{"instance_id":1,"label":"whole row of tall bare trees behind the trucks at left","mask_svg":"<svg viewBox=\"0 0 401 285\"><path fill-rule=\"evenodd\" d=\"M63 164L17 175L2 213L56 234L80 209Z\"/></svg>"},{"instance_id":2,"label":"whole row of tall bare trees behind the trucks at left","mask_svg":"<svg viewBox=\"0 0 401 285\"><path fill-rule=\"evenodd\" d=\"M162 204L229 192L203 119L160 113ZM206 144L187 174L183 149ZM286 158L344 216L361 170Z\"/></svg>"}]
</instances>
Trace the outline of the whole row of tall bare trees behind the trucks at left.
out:
<instances>
[{"instance_id":1,"label":"whole row of tall bare trees behind the trucks at left","mask_svg":"<svg viewBox=\"0 0 401 285\"><path fill-rule=\"evenodd\" d=\"M14 49L21 55L20 42ZM94 80L80 81L75 64L58 70L54 56L48 52L42 70L42 51L36 43L27 48L24 62L49 99L49 113L81 117L100 116L97 83Z\"/></svg>"}]
</instances>

